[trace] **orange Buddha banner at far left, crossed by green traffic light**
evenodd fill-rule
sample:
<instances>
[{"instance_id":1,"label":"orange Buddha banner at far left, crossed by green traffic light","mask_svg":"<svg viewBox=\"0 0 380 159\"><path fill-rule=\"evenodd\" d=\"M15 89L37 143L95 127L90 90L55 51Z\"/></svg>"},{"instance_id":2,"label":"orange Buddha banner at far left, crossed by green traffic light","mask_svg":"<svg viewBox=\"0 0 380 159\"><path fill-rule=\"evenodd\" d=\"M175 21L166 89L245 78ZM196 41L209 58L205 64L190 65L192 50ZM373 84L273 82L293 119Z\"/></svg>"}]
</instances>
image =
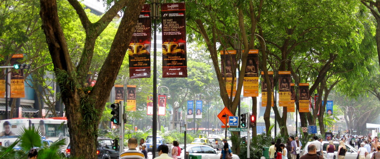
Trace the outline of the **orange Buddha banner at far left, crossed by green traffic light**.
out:
<instances>
[{"instance_id":1,"label":"orange Buddha banner at far left, crossed by green traffic light","mask_svg":"<svg viewBox=\"0 0 380 159\"><path fill-rule=\"evenodd\" d=\"M11 65L20 64L24 54L14 54L11 59ZM24 70L22 69L13 69L11 74L11 97L10 98L24 98L25 89L24 89Z\"/></svg>"}]
</instances>

